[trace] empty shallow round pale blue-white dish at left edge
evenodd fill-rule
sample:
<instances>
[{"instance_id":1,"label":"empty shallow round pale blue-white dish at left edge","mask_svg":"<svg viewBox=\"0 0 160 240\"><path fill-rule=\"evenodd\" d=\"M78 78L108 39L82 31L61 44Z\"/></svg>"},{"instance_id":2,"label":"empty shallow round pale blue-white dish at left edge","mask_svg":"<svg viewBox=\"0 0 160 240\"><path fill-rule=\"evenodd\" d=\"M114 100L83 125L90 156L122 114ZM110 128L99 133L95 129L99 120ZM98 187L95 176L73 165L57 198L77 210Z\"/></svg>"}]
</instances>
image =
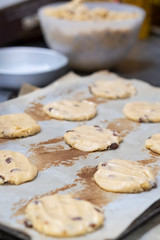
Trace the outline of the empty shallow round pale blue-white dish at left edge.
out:
<instances>
[{"instance_id":1,"label":"empty shallow round pale blue-white dish at left edge","mask_svg":"<svg viewBox=\"0 0 160 240\"><path fill-rule=\"evenodd\" d=\"M0 49L0 88L20 88L24 82L45 86L62 76L68 59L57 51L36 47Z\"/></svg>"}]
</instances>

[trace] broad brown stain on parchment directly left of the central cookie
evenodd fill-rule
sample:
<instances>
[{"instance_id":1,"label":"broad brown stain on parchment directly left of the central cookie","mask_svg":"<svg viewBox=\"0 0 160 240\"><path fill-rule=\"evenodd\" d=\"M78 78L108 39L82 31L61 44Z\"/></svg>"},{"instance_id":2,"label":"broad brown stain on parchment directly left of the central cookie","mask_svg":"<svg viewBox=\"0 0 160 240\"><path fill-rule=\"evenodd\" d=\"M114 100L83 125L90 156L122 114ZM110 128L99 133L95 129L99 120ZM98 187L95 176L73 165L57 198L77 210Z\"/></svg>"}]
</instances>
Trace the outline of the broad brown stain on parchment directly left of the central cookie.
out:
<instances>
[{"instance_id":1,"label":"broad brown stain on parchment directly left of the central cookie","mask_svg":"<svg viewBox=\"0 0 160 240\"><path fill-rule=\"evenodd\" d=\"M65 149L62 144L63 138L49 139L38 144L31 144L29 149L29 159L37 166L38 171L50 168L51 166L72 166L80 157L85 159L89 152L79 151L77 149Z\"/></svg>"}]
</instances>

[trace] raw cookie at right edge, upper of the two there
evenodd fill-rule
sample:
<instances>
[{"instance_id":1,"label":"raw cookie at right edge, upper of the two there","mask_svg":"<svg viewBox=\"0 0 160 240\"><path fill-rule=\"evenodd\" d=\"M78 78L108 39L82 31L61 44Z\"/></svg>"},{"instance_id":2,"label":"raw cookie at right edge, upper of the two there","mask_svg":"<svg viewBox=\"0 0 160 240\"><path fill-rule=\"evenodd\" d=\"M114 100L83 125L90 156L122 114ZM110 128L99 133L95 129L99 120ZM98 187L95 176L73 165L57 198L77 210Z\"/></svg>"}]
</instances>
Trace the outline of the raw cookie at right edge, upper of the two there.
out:
<instances>
[{"instance_id":1,"label":"raw cookie at right edge, upper of the two there","mask_svg":"<svg viewBox=\"0 0 160 240\"><path fill-rule=\"evenodd\" d=\"M130 102L125 105L123 112L136 122L160 122L160 103Z\"/></svg>"}]
</instances>

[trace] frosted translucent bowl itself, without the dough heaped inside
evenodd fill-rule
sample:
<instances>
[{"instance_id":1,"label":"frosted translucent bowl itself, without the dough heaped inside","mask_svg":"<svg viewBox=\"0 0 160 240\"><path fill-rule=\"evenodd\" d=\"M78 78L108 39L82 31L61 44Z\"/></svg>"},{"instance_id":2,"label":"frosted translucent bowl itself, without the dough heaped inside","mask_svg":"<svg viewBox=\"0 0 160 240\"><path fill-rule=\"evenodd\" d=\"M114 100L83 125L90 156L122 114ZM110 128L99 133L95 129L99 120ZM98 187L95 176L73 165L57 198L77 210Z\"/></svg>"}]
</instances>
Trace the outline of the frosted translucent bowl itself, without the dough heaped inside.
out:
<instances>
[{"instance_id":1,"label":"frosted translucent bowl itself, without the dough heaped inside","mask_svg":"<svg viewBox=\"0 0 160 240\"><path fill-rule=\"evenodd\" d=\"M38 11L47 45L69 58L72 68L93 71L115 66L135 44L145 12L129 4L88 2L89 8L138 12L139 17L119 21L69 21L47 16L45 10L64 3L50 4Z\"/></svg>"}]
</instances>

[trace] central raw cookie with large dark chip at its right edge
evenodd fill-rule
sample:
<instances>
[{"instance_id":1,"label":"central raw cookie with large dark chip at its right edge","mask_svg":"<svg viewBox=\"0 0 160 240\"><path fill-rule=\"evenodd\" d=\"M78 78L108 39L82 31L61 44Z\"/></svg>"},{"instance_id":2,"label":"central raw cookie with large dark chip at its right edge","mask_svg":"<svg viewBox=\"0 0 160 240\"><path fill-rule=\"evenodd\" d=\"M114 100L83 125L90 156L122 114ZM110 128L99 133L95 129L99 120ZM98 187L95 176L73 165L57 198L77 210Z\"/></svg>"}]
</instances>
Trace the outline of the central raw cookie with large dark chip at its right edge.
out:
<instances>
[{"instance_id":1,"label":"central raw cookie with large dark chip at its right edge","mask_svg":"<svg viewBox=\"0 0 160 240\"><path fill-rule=\"evenodd\" d=\"M66 143L81 151L116 149L122 141L119 134L110 129L95 126L80 126L65 133Z\"/></svg>"}]
</instances>

